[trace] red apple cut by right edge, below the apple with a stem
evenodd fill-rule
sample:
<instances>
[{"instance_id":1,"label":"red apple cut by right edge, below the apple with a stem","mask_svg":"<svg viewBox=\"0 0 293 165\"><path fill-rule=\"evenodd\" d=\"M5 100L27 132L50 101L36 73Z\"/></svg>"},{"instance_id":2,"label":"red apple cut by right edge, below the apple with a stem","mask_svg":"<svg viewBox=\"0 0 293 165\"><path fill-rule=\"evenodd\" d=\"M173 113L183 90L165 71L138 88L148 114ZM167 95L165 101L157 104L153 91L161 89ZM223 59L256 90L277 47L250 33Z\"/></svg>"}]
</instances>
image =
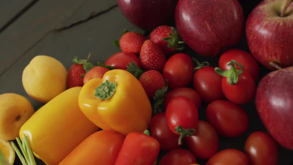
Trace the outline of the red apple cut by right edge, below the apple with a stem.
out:
<instances>
[{"instance_id":1,"label":"red apple cut by right edge, below the apple with a stem","mask_svg":"<svg viewBox=\"0 0 293 165\"><path fill-rule=\"evenodd\" d=\"M258 84L255 104L258 114L284 148L293 150L293 67L264 76Z\"/></svg>"}]
</instances>

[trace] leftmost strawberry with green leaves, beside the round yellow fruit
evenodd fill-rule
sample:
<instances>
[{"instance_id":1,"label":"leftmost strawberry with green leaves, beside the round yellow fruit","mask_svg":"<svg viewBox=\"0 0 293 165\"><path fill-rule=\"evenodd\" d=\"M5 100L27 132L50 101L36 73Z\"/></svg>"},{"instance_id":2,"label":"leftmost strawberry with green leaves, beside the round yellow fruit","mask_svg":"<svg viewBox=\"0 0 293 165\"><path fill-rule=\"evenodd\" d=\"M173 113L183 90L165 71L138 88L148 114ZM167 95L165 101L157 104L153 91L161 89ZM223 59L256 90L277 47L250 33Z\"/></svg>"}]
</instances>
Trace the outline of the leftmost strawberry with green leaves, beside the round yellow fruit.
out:
<instances>
[{"instance_id":1,"label":"leftmost strawberry with green leaves, beside the round yellow fruit","mask_svg":"<svg viewBox=\"0 0 293 165\"><path fill-rule=\"evenodd\" d=\"M68 89L74 86L83 86L84 74L94 67L88 62L90 56L91 54L88 55L87 60L79 60L77 57L73 58L73 65L69 68L67 76Z\"/></svg>"}]
</instances>

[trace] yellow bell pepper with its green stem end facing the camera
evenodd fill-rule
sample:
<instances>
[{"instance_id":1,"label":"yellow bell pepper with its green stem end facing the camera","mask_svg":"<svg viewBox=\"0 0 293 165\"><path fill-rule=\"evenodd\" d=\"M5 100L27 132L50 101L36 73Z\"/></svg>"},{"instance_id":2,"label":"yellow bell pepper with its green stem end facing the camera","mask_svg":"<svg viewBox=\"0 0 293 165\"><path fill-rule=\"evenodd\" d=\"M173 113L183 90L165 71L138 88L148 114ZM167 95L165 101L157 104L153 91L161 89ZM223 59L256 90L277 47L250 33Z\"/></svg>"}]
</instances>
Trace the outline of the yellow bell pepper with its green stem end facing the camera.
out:
<instances>
[{"instance_id":1,"label":"yellow bell pepper with its green stem end facing the camera","mask_svg":"<svg viewBox=\"0 0 293 165\"><path fill-rule=\"evenodd\" d=\"M146 91L125 70L114 69L102 79L85 83L78 104L85 116L103 130L127 135L144 132L150 124L152 110Z\"/></svg>"}]
</instances>

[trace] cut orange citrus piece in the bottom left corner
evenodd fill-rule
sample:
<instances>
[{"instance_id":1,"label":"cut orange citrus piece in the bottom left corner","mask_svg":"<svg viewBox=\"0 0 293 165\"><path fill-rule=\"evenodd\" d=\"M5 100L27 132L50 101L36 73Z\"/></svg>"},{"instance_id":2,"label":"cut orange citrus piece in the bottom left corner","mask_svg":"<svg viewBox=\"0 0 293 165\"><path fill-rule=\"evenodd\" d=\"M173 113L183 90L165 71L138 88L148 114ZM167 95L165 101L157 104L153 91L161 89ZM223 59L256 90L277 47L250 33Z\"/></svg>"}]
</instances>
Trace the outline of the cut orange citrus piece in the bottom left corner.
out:
<instances>
[{"instance_id":1,"label":"cut orange citrus piece in the bottom left corner","mask_svg":"<svg viewBox=\"0 0 293 165\"><path fill-rule=\"evenodd\" d=\"M13 165L15 159L15 151L10 142L0 139L0 150L8 163ZM0 158L1 159L1 158Z\"/></svg>"}]
</instances>

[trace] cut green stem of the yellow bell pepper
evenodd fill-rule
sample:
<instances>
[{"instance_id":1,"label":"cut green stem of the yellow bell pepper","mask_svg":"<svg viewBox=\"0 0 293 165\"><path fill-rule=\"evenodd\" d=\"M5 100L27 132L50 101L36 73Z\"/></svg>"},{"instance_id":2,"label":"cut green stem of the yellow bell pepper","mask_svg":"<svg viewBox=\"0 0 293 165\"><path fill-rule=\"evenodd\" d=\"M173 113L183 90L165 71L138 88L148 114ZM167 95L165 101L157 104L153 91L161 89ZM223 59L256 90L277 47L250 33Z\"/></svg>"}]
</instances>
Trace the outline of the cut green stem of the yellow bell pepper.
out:
<instances>
[{"instance_id":1,"label":"cut green stem of the yellow bell pepper","mask_svg":"<svg viewBox=\"0 0 293 165\"><path fill-rule=\"evenodd\" d=\"M108 99L112 97L112 95L116 91L116 83L109 82L106 80L105 83L100 84L96 89L95 89L95 97L100 98L101 100Z\"/></svg>"}]
</instances>

